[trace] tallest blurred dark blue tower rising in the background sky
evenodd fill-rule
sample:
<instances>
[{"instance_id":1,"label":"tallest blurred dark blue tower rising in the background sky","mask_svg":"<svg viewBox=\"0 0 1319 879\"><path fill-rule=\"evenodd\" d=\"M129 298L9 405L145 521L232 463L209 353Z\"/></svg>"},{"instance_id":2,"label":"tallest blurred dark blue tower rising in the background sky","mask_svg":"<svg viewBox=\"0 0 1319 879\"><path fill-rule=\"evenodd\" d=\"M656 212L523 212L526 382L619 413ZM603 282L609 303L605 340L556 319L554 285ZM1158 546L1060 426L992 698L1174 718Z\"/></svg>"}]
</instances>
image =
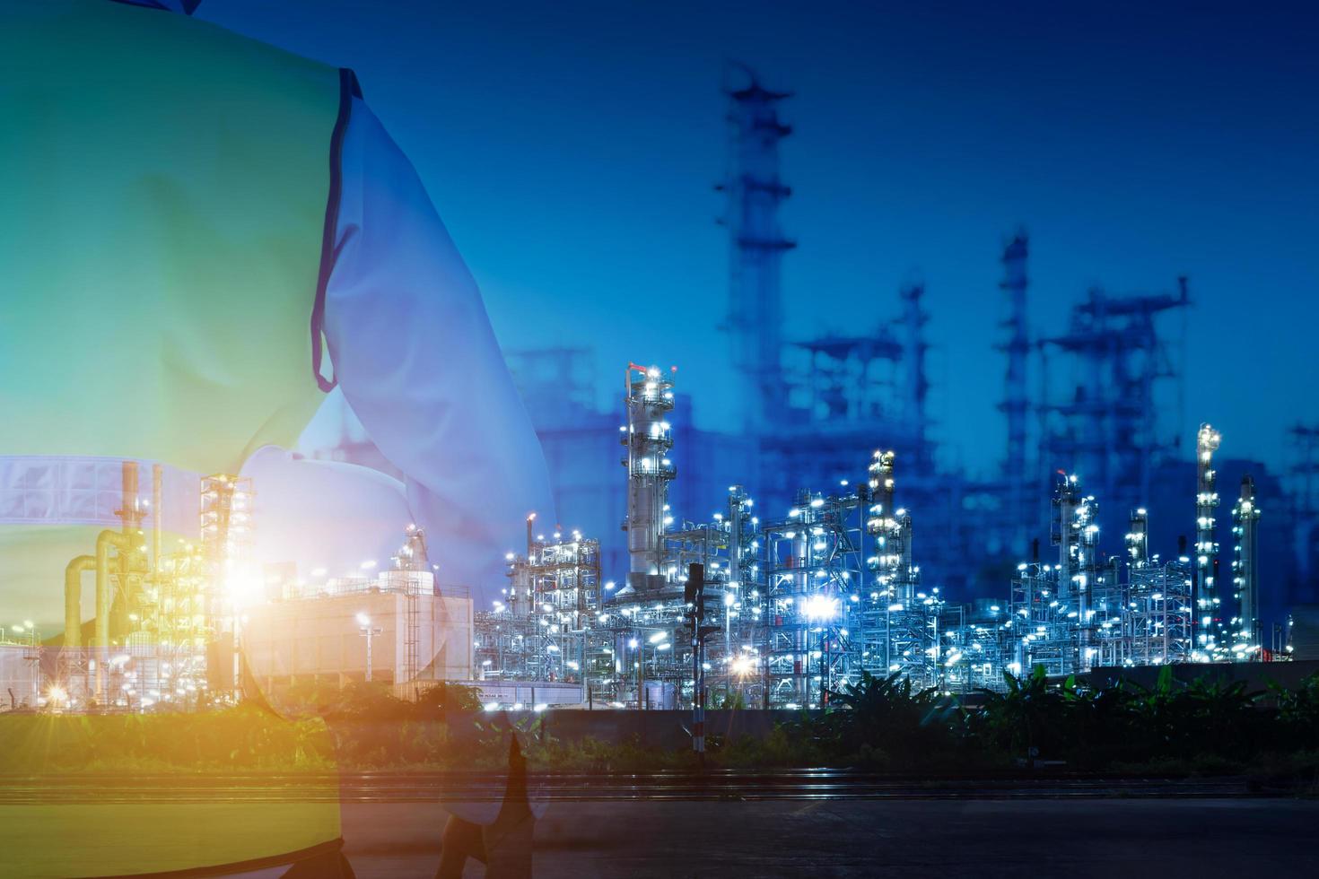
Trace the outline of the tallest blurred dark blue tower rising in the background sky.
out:
<instances>
[{"instance_id":1,"label":"tallest blurred dark blue tower rising in the background sky","mask_svg":"<svg viewBox=\"0 0 1319 879\"><path fill-rule=\"evenodd\" d=\"M749 82L728 91L729 167L715 188L728 195L720 219L732 245L723 328L744 382L739 424L760 434L786 402L780 262L795 245L778 225L778 206L791 194L778 177L778 141L793 129L778 121L778 101L790 95L762 88L753 71L741 70Z\"/></svg>"}]
</instances>

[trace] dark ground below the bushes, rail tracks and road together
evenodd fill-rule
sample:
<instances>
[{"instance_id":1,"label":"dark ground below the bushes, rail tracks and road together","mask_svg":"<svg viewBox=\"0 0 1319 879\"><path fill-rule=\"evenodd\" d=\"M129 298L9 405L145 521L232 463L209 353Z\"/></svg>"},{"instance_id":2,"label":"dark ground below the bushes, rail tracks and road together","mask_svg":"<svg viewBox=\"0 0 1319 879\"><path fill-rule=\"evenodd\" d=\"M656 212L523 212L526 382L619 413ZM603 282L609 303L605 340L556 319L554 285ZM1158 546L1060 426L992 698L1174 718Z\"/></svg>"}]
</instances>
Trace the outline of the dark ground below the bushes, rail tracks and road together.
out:
<instances>
[{"instance_id":1,"label":"dark ground below the bushes, rail tracks and road together","mask_svg":"<svg viewBox=\"0 0 1319 879\"><path fill-rule=\"evenodd\" d=\"M1310 876L1319 800L1239 779L901 780L836 771L561 774L534 875ZM434 875L448 799L500 799L475 774L0 778L0 804L342 803L361 879ZM3 874L3 870L0 870ZM483 871L472 865L467 875Z\"/></svg>"}]
</instances>

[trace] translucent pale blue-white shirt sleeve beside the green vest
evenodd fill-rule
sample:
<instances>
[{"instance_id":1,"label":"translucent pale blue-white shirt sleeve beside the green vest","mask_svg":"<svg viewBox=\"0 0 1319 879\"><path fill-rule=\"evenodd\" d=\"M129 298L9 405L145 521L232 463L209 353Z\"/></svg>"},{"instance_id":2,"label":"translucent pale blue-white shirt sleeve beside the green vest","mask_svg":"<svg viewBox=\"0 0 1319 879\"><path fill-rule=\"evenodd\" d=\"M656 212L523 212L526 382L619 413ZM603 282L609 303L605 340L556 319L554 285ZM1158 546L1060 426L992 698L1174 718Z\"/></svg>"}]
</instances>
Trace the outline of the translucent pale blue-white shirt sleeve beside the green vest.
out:
<instances>
[{"instance_id":1,"label":"translucent pale blue-white shirt sleeve beside the green vest","mask_svg":"<svg viewBox=\"0 0 1319 879\"><path fill-rule=\"evenodd\" d=\"M344 398L404 473L438 580L492 594L526 515L554 522L541 444L480 291L412 163L353 99L324 333Z\"/></svg>"}]
</instances>

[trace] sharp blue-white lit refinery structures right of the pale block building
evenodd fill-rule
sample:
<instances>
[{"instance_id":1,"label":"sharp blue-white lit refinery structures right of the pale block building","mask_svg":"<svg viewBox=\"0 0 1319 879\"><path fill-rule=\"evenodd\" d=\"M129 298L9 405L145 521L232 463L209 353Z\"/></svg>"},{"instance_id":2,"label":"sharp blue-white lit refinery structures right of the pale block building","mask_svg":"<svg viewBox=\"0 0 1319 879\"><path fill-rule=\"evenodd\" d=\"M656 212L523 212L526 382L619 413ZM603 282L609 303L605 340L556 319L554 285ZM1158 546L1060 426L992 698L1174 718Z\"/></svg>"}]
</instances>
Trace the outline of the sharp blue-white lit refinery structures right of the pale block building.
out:
<instances>
[{"instance_id":1,"label":"sharp blue-white lit refinery structures right of the pale block building","mask_svg":"<svg viewBox=\"0 0 1319 879\"><path fill-rule=\"evenodd\" d=\"M809 708L863 671L900 673L918 687L966 693L1004 685L1042 666L1050 675L1101 667L1285 659L1265 643L1258 608L1260 511L1242 481L1233 507L1232 584L1213 576L1217 505L1208 424L1198 434L1196 543L1151 551L1150 513L1129 510L1122 551L1105 555L1100 498L1058 473L1039 542L1000 600L950 601L922 584L919 517L901 505L900 455L876 451L855 481L802 488L774 515L740 485L712 521L681 518L669 503L674 382L658 368L628 368L625 449L629 564L605 580L599 542L534 532L509 556L501 600L476 614L480 679L571 681L584 701L675 708L692 692L690 565L704 572L706 701ZM860 459L861 456L859 456ZM621 486L620 486L621 488ZM1005 584L1009 585L1009 584Z\"/></svg>"}]
</instances>

